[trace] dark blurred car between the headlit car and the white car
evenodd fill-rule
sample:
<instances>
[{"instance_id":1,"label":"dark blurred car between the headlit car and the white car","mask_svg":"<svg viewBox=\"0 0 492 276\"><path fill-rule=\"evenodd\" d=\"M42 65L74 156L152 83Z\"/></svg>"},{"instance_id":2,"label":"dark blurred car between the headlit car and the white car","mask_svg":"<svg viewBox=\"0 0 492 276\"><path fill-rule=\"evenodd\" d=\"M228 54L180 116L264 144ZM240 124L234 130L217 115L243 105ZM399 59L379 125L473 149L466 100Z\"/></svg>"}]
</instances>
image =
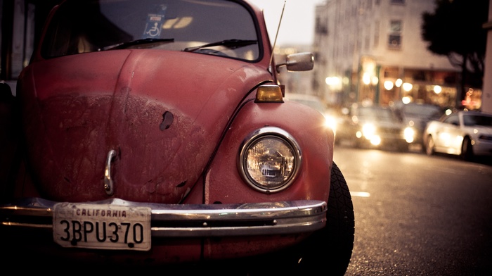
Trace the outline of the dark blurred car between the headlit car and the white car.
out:
<instances>
[{"instance_id":1,"label":"dark blurred car between the headlit car and the white car","mask_svg":"<svg viewBox=\"0 0 492 276\"><path fill-rule=\"evenodd\" d=\"M403 121L407 127L414 131L413 144L421 146L425 151L424 130L427 123L431 120L438 120L444 115L444 109L430 103L402 103L395 109L396 115Z\"/></svg>"}]
</instances>

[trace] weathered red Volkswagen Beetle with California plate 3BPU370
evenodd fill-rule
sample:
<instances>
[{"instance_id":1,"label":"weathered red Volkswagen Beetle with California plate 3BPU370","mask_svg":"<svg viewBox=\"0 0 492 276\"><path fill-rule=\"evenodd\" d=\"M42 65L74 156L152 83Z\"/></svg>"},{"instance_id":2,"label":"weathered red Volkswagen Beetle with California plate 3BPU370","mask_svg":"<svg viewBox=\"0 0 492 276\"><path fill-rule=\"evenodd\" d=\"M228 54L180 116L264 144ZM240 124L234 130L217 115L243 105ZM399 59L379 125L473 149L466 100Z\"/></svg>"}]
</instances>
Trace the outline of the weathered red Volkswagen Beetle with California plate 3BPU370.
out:
<instances>
[{"instance_id":1,"label":"weathered red Volkswagen Beetle with California plate 3BPU370","mask_svg":"<svg viewBox=\"0 0 492 276\"><path fill-rule=\"evenodd\" d=\"M2 143L8 261L343 275L354 209L333 132L277 78L313 56L272 56L247 1L53 8L15 97L2 84L21 126Z\"/></svg>"}]
</instances>

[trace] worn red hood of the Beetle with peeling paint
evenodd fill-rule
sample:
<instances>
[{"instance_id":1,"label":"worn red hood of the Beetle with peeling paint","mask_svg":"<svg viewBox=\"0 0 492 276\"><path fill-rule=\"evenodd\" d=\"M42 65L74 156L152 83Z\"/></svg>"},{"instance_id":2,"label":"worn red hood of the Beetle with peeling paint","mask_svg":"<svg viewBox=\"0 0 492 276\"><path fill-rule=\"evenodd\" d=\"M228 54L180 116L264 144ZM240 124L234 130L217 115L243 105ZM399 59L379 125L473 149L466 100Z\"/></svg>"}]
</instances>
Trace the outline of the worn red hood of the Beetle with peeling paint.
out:
<instances>
[{"instance_id":1,"label":"worn red hood of the Beetle with peeling paint","mask_svg":"<svg viewBox=\"0 0 492 276\"><path fill-rule=\"evenodd\" d=\"M176 51L105 51L32 63L18 91L41 190L53 200L179 203L245 94L270 79L252 63ZM111 150L115 157L108 157Z\"/></svg>"}]
</instances>

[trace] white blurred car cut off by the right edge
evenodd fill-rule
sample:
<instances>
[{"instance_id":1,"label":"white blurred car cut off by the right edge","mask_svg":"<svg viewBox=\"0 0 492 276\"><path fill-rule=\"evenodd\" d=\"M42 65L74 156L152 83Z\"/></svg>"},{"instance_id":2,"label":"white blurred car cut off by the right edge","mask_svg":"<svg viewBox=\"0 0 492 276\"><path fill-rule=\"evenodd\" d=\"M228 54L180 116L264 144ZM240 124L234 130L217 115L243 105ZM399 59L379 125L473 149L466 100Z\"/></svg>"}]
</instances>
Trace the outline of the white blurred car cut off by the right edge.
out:
<instances>
[{"instance_id":1,"label":"white blurred car cut off by the right edge","mask_svg":"<svg viewBox=\"0 0 492 276\"><path fill-rule=\"evenodd\" d=\"M427 155L447 153L471 161L474 156L492 156L492 114L458 111L427 124Z\"/></svg>"}]
</instances>

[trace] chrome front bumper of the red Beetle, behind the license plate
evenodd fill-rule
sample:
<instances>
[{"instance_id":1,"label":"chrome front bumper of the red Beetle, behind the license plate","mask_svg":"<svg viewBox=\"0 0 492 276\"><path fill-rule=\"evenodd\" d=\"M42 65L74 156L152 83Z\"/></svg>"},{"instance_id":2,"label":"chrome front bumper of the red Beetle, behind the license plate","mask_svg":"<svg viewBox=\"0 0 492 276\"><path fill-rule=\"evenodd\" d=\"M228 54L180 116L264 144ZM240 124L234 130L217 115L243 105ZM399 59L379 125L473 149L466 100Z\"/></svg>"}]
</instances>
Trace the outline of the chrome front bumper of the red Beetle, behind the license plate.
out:
<instances>
[{"instance_id":1,"label":"chrome front bumper of the red Beetle, behind the license plate","mask_svg":"<svg viewBox=\"0 0 492 276\"><path fill-rule=\"evenodd\" d=\"M0 206L0 227L33 231L53 228L57 202L24 199ZM245 204L157 204L122 199L84 202L150 207L152 237L225 237L313 232L326 224L325 201L278 201Z\"/></svg>"}]
</instances>

